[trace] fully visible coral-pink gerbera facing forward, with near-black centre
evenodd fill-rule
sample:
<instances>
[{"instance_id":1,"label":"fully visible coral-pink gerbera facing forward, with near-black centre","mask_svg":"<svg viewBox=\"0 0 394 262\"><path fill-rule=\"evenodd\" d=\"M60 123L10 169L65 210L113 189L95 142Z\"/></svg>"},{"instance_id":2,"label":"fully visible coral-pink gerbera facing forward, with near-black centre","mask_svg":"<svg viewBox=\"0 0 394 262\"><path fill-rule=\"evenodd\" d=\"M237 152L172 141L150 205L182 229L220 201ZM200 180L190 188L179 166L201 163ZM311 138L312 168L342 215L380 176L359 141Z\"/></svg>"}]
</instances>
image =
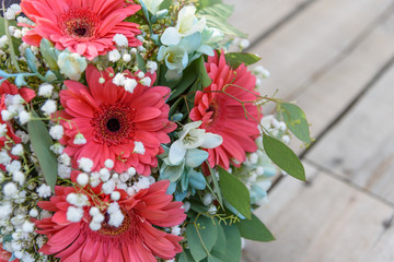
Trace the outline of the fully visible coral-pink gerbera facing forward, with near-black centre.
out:
<instances>
[{"instance_id":1,"label":"fully visible coral-pink gerbera facing forward, with near-black centre","mask_svg":"<svg viewBox=\"0 0 394 262\"><path fill-rule=\"evenodd\" d=\"M65 81L68 90L60 92L60 122L67 145L65 153L73 158L73 166L82 157L91 158L93 169L104 167L106 159L115 163L117 172L136 168L138 174L149 176L150 168L158 165L157 155L163 153L162 143L170 143L169 132L176 124L169 120L170 106L165 98L170 88L137 84L132 93L113 83L114 70L99 72L94 66L86 69L88 86L77 81ZM129 71L125 78L140 81ZM155 74L147 73L152 83ZM103 84L99 79L104 78ZM66 120L65 120L66 119ZM76 144L82 133L86 143Z\"/></svg>"}]
</instances>

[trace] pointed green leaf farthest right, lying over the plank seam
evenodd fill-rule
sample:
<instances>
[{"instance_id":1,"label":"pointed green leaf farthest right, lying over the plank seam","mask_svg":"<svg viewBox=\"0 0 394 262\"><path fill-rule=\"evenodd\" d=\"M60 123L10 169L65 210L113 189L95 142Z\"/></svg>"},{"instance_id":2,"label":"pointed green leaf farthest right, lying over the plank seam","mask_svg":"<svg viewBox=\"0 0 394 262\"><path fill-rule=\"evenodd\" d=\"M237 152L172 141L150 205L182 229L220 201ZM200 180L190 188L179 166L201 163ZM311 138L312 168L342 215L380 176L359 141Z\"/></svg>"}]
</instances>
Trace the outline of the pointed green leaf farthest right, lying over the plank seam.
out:
<instances>
[{"instance_id":1,"label":"pointed green leaf farthest right, lying over the plank seam","mask_svg":"<svg viewBox=\"0 0 394 262\"><path fill-rule=\"evenodd\" d=\"M298 156L286 144L264 133L264 150L269 159L290 176L306 181L305 170Z\"/></svg>"}]
</instances>

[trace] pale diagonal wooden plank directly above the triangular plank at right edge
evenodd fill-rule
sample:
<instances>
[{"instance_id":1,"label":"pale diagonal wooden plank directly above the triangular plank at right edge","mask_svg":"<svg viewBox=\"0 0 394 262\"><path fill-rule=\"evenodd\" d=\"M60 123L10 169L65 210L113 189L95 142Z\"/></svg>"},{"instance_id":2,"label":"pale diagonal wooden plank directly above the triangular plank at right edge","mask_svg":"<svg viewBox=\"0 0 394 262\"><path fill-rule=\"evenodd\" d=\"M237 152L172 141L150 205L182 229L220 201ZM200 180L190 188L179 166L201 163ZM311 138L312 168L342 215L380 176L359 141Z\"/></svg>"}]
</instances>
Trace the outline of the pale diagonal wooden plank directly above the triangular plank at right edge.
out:
<instances>
[{"instance_id":1,"label":"pale diagonal wooden plank directly above the triangular plank at right edge","mask_svg":"<svg viewBox=\"0 0 394 262\"><path fill-rule=\"evenodd\" d=\"M312 136L321 134L394 56L394 32L390 25L394 25L394 15L318 80L289 98L305 111ZM294 140L292 148L301 152L300 145Z\"/></svg>"}]
</instances>

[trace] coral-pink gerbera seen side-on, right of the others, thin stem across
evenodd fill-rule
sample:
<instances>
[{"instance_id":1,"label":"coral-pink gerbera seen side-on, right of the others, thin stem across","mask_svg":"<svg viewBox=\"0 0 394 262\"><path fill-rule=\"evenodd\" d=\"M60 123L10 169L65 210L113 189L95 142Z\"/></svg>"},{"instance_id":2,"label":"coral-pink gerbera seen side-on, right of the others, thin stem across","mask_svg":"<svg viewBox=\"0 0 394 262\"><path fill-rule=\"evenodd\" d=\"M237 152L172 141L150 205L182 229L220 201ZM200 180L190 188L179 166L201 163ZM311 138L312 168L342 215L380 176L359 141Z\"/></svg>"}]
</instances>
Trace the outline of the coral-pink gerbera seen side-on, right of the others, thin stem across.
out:
<instances>
[{"instance_id":1,"label":"coral-pink gerbera seen side-on, right of the others, thin stem across","mask_svg":"<svg viewBox=\"0 0 394 262\"><path fill-rule=\"evenodd\" d=\"M240 166L246 159L245 152L257 150L255 139L259 135L258 122L263 115L251 103L258 96L254 91L256 78L244 64L232 70L225 63L223 53L219 58L208 58L206 69L212 83L202 92L197 92L190 119L201 120L201 129L223 138L220 146L208 150L208 160L212 167L219 165L229 169L230 163ZM220 91L227 94L218 93ZM247 116L239 100L248 102L244 103Z\"/></svg>"}]
</instances>

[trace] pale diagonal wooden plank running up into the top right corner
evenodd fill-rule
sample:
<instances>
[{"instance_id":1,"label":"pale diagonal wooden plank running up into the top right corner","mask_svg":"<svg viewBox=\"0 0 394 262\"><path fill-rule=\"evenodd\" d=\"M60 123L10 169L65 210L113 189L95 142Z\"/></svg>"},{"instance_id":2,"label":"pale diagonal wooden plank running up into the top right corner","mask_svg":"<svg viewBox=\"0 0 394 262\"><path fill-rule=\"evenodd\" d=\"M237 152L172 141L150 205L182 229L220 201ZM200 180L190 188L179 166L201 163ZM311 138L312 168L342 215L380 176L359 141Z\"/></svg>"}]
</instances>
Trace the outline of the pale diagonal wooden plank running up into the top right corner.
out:
<instances>
[{"instance_id":1,"label":"pale diagonal wooden plank running up into the top right corner","mask_svg":"<svg viewBox=\"0 0 394 262\"><path fill-rule=\"evenodd\" d=\"M271 78L263 91L287 97L333 63L393 0L320 0L252 49Z\"/></svg>"}]
</instances>

